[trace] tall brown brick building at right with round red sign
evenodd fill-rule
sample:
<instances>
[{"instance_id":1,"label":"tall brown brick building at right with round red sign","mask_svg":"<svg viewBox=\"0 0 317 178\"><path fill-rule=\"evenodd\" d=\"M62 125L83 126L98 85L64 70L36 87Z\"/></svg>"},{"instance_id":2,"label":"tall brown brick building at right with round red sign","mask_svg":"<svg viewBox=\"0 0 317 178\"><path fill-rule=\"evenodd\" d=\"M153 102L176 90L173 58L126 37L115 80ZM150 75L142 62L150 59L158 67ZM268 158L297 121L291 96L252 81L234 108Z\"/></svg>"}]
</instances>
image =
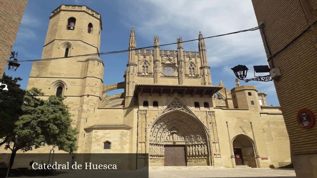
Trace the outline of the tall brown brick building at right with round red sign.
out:
<instances>
[{"instance_id":1,"label":"tall brown brick building at right with round red sign","mask_svg":"<svg viewBox=\"0 0 317 178\"><path fill-rule=\"evenodd\" d=\"M306 108L317 118L317 1L252 0L281 104L297 177L317 177L317 126L302 128L297 113ZM266 40L265 40L266 38ZM266 42L267 41L267 42Z\"/></svg>"}]
</instances>

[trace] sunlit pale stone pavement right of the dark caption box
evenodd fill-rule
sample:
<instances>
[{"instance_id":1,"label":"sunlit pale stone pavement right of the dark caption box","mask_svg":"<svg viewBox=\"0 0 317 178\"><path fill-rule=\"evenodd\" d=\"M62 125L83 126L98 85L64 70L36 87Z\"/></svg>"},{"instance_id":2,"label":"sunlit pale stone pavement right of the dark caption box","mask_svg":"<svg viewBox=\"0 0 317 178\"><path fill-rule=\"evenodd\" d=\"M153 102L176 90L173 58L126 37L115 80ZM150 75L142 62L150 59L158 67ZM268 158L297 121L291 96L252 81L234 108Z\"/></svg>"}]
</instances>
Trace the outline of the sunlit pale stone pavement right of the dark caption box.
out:
<instances>
[{"instance_id":1,"label":"sunlit pale stone pavement right of the dark caption box","mask_svg":"<svg viewBox=\"0 0 317 178\"><path fill-rule=\"evenodd\" d=\"M150 178L296 178L294 169L270 168L212 168L169 169L150 168Z\"/></svg>"}]
</instances>

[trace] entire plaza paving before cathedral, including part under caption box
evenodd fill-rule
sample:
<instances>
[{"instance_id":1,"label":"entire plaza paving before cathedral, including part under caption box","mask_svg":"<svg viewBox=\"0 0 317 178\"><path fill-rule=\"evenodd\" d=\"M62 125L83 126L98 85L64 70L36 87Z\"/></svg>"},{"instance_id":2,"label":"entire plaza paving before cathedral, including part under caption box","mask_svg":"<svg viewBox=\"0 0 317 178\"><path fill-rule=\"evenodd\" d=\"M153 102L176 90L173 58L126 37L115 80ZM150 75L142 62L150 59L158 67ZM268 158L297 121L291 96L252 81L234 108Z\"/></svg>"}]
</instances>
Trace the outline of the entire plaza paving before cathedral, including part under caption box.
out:
<instances>
[{"instance_id":1,"label":"entire plaza paving before cathedral, including part under caption box","mask_svg":"<svg viewBox=\"0 0 317 178\"><path fill-rule=\"evenodd\" d=\"M13 176L11 176L13 177ZM19 178L30 178L22 176ZM293 169L270 168L150 168L136 171L60 171L36 178L296 178Z\"/></svg>"}]
</instances>

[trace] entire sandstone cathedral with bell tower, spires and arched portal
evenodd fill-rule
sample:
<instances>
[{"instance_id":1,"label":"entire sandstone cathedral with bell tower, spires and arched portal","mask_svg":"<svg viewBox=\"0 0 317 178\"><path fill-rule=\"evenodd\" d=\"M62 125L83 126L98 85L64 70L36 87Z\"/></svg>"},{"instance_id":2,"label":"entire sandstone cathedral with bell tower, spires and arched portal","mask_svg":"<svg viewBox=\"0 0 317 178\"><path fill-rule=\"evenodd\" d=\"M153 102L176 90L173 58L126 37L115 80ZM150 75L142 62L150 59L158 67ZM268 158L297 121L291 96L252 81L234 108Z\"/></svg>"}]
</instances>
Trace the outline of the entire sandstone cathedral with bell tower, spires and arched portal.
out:
<instances>
[{"instance_id":1,"label":"entire sandstone cathedral with bell tower, spires and arched portal","mask_svg":"<svg viewBox=\"0 0 317 178\"><path fill-rule=\"evenodd\" d=\"M100 53L99 13L61 5L49 19L42 59ZM135 153L132 168L291 163L280 107L267 105L265 93L237 79L231 90L213 83L201 32L197 51L185 50L181 37L177 49L160 49L159 37L154 48L140 49L136 33L132 28L127 39L127 68L119 83L104 84L105 63L98 55L33 63L27 89L42 89L43 99L67 96L79 131L76 153ZM108 95L116 89L124 92Z\"/></svg>"}]
</instances>

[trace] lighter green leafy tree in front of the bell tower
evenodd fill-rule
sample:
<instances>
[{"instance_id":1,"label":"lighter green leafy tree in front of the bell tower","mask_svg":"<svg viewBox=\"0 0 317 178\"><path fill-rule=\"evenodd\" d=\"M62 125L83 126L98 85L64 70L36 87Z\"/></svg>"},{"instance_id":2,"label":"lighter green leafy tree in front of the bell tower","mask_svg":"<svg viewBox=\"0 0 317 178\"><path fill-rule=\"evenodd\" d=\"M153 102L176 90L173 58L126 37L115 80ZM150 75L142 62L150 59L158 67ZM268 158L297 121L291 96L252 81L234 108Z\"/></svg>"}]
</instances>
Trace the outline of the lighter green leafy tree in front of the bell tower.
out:
<instances>
[{"instance_id":1,"label":"lighter green leafy tree in front of the bell tower","mask_svg":"<svg viewBox=\"0 0 317 178\"><path fill-rule=\"evenodd\" d=\"M16 87L19 86L16 85ZM12 87L9 88L9 92L10 89ZM71 114L68 111L68 106L63 102L65 97L51 95L47 100L43 100L39 98L42 95L44 93L37 88L25 91L22 104L17 107L19 109L19 112L16 113L18 117L9 117L11 114L5 113L7 118L11 118L8 123L13 122L10 130L3 131L3 133L1 131L2 140L5 140L4 143L8 143L6 148L12 151L8 171L13 165L18 150L25 152L45 145L53 145L59 150L69 153L77 149L76 134L78 132L71 126ZM10 97L14 98L15 96ZM4 102L6 98L0 99ZM7 106L10 107L10 105ZM7 112L15 111L12 109L7 110Z\"/></svg>"}]
</instances>

